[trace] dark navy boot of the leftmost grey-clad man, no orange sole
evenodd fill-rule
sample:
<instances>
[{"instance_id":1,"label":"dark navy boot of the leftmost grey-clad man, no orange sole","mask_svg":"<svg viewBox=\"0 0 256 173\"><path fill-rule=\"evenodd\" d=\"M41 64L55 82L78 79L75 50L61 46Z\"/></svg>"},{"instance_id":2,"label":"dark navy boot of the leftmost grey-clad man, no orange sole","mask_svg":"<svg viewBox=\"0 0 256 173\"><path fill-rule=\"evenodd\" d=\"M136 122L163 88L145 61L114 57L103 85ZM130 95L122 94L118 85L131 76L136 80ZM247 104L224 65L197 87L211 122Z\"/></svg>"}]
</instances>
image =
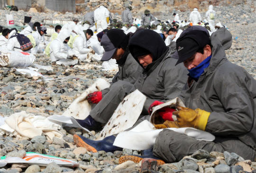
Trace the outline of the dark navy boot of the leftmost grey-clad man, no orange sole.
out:
<instances>
[{"instance_id":1,"label":"dark navy boot of the leftmost grey-clad man, no orange sole","mask_svg":"<svg viewBox=\"0 0 256 173\"><path fill-rule=\"evenodd\" d=\"M88 115L84 120L75 119L83 128L88 130L99 130L101 129L101 123L95 121L91 115Z\"/></svg>"}]
</instances>

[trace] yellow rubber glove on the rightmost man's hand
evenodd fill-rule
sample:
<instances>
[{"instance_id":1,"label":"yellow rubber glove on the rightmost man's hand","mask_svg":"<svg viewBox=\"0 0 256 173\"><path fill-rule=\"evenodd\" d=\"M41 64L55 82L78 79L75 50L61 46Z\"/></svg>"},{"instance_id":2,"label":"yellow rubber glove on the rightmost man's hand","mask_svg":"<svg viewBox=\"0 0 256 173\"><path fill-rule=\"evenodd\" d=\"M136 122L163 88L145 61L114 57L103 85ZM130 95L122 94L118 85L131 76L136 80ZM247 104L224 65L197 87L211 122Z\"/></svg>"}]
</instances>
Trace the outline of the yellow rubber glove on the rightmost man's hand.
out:
<instances>
[{"instance_id":1,"label":"yellow rubber glove on the rightmost man's hand","mask_svg":"<svg viewBox=\"0 0 256 173\"><path fill-rule=\"evenodd\" d=\"M187 107L178 106L179 111L173 112L177 116L175 124L179 127L192 127L199 130L205 130L210 112L201 109L192 110Z\"/></svg>"}]
</instances>

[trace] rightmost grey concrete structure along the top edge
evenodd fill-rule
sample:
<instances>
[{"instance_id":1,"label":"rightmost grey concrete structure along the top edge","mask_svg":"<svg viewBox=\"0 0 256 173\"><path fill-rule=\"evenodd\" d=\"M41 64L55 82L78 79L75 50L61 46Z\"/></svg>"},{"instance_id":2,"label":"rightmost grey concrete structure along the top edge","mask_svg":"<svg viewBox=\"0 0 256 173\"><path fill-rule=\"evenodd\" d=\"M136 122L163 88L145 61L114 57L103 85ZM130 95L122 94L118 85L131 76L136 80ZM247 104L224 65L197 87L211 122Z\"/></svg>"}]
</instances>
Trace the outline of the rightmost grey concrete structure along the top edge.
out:
<instances>
[{"instance_id":1,"label":"rightmost grey concrete structure along the top edge","mask_svg":"<svg viewBox=\"0 0 256 173\"><path fill-rule=\"evenodd\" d=\"M75 0L45 0L47 9L60 12L75 12Z\"/></svg>"}]
</instances>

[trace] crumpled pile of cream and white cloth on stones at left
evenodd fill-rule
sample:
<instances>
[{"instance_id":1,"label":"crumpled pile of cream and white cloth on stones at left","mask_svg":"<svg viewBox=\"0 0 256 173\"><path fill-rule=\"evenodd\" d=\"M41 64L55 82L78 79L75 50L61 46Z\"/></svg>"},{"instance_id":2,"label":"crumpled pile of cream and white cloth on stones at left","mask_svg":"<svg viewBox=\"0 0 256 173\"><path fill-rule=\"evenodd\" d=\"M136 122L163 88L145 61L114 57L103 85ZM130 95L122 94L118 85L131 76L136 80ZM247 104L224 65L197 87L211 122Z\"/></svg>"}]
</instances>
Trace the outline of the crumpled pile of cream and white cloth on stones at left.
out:
<instances>
[{"instance_id":1,"label":"crumpled pile of cream and white cloth on stones at left","mask_svg":"<svg viewBox=\"0 0 256 173\"><path fill-rule=\"evenodd\" d=\"M5 120L5 124L0 126L0 134L27 138L44 134L48 140L53 140L53 137L63 137L58 131L60 128L60 125L50 122L45 117L22 111L12 114Z\"/></svg>"}]
</instances>

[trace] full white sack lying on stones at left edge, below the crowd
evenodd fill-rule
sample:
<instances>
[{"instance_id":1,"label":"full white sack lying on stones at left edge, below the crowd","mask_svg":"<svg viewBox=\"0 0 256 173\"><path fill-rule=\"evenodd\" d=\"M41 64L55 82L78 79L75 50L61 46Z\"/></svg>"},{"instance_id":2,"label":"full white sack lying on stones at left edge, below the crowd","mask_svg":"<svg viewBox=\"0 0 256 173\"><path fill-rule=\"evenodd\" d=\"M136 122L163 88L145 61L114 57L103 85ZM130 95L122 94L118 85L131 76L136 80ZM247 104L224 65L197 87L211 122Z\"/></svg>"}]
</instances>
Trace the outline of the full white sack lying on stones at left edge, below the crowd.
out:
<instances>
[{"instance_id":1,"label":"full white sack lying on stones at left edge, below the crowd","mask_svg":"<svg viewBox=\"0 0 256 173\"><path fill-rule=\"evenodd\" d=\"M0 66L2 67L28 67L35 61L35 55L27 52L0 51Z\"/></svg>"}]
</instances>

